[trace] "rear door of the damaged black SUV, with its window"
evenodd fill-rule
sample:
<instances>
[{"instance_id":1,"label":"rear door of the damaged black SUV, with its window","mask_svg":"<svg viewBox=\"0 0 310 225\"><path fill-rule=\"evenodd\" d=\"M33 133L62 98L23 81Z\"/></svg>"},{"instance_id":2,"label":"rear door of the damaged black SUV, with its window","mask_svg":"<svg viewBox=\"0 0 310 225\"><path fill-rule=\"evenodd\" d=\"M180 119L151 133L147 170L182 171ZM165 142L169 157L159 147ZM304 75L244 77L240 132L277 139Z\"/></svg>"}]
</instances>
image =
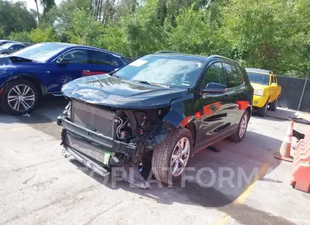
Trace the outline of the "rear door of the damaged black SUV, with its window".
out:
<instances>
[{"instance_id":1,"label":"rear door of the damaged black SUV, with its window","mask_svg":"<svg viewBox=\"0 0 310 225\"><path fill-rule=\"evenodd\" d=\"M231 125L236 127L240 122L244 109L241 109L246 103L249 104L248 94L250 92L243 81L242 74L237 65L232 63L223 63L227 77L227 95L230 103ZM250 105L250 104L249 104Z\"/></svg>"}]
</instances>

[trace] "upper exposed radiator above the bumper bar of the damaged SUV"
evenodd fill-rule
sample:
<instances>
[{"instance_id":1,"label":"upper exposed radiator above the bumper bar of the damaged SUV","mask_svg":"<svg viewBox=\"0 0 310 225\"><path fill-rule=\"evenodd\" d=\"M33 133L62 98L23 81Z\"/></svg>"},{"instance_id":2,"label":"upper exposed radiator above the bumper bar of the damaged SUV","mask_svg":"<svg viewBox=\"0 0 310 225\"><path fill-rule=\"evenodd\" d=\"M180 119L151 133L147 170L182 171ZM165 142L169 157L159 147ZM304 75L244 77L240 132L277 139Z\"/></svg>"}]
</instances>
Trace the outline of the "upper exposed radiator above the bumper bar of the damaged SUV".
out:
<instances>
[{"instance_id":1,"label":"upper exposed radiator above the bumper bar of the damaged SUV","mask_svg":"<svg viewBox=\"0 0 310 225\"><path fill-rule=\"evenodd\" d=\"M72 101L72 122L92 131L99 131L110 138L114 138L115 116L114 111L77 100Z\"/></svg>"}]
</instances>

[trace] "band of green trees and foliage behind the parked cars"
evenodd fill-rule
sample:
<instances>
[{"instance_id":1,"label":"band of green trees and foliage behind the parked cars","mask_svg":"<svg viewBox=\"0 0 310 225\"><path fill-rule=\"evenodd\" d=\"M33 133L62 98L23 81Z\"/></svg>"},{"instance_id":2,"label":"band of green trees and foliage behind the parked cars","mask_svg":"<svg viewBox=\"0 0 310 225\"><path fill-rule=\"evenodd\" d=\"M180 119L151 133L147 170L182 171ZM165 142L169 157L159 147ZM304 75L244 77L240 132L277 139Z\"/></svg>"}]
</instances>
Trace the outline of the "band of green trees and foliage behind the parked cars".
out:
<instances>
[{"instance_id":1,"label":"band of green trees and foliage behind the parked cars","mask_svg":"<svg viewBox=\"0 0 310 225\"><path fill-rule=\"evenodd\" d=\"M245 67L310 78L309 0L42 0L35 28L1 10L0 36L103 47L125 56L157 50L221 54ZM17 4L17 5L16 5ZM16 5L16 6L15 6ZM19 10L17 10L19 12ZM14 12L14 10L12 10ZM13 16L14 17L14 16ZM35 29L34 29L35 28ZM2 32L1 32L2 29Z\"/></svg>"}]
</instances>

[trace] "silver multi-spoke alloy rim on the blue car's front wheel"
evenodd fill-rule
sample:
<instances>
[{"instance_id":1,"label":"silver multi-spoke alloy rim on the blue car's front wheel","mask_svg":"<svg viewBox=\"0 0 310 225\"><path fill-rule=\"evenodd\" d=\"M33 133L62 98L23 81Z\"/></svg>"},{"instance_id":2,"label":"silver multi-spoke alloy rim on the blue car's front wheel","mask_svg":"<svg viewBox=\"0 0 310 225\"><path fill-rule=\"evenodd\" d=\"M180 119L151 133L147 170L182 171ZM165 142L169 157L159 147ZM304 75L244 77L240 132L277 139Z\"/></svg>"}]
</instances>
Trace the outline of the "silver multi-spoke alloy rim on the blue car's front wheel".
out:
<instances>
[{"instance_id":1,"label":"silver multi-spoke alloy rim on the blue car's front wheel","mask_svg":"<svg viewBox=\"0 0 310 225\"><path fill-rule=\"evenodd\" d=\"M34 102L34 91L27 85L16 85L8 93L8 104L15 111L27 111Z\"/></svg>"}]
</instances>

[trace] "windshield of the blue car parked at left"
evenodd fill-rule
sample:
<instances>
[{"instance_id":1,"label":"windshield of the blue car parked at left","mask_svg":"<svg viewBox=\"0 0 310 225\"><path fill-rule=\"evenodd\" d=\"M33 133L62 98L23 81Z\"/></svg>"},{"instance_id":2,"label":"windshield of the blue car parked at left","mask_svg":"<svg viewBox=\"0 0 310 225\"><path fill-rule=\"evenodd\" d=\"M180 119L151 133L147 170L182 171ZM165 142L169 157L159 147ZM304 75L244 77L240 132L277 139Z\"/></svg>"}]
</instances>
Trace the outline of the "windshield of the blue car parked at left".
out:
<instances>
[{"instance_id":1,"label":"windshield of the blue car parked at left","mask_svg":"<svg viewBox=\"0 0 310 225\"><path fill-rule=\"evenodd\" d=\"M11 54L12 56L19 56L21 58L28 58L33 61L45 62L55 54L58 54L66 47L58 43L40 43L25 47L23 50Z\"/></svg>"}]
</instances>

